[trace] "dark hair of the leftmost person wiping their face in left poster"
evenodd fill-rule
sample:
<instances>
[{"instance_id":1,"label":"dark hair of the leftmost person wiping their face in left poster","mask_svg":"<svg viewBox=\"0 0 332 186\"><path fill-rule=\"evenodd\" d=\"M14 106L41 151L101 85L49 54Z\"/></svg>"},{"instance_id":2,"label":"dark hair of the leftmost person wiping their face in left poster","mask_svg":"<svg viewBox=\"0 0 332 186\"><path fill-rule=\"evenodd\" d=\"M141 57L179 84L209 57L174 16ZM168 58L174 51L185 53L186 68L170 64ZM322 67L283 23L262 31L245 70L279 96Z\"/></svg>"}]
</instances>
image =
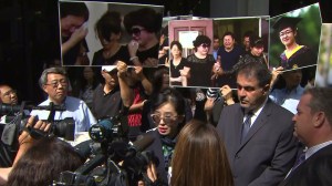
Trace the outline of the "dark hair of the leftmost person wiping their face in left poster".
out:
<instances>
[{"instance_id":1,"label":"dark hair of the leftmost person wiping their face in left poster","mask_svg":"<svg viewBox=\"0 0 332 186\"><path fill-rule=\"evenodd\" d=\"M75 16L89 20L89 9L84 2L60 2L60 17Z\"/></svg>"}]
</instances>

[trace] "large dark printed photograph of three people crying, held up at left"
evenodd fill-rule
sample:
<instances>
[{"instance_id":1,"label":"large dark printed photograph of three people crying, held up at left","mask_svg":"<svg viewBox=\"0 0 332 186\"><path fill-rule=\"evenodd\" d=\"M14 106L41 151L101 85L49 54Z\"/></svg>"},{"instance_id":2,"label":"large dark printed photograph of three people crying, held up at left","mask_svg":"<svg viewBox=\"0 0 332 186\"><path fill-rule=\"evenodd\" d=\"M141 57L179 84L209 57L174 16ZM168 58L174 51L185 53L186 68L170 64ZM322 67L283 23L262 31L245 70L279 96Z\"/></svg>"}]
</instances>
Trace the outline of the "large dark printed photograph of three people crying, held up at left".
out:
<instances>
[{"instance_id":1,"label":"large dark printed photograph of three people crying, held up at left","mask_svg":"<svg viewBox=\"0 0 332 186\"><path fill-rule=\"evenodd\" d=\"M160 6L60 1L62 65L157 66Z\"/></svg>"}]
</instances>

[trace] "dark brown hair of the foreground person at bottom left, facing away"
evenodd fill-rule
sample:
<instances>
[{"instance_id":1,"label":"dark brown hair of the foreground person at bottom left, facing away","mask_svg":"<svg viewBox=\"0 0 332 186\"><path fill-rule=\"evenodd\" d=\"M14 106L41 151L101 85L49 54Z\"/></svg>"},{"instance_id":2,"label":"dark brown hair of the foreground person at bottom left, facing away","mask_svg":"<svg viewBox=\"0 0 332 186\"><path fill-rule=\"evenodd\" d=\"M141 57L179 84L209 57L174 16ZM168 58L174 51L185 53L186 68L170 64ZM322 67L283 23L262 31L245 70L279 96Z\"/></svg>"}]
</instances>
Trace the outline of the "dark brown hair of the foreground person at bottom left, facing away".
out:
<instances>
[{"instance_id":1,"label":"dark brown hair of the foreground person at bottom left, facing away","mask_svg":"<svg viewBox=\"0 0 332 186\"><path fill-rule=\"evenodd\" d=\"M18 161L8 178L8 186L46 186L60 173L75 170L84 159L68 143L52 137L38 141Z\"/></svg>"}]
</instances>

